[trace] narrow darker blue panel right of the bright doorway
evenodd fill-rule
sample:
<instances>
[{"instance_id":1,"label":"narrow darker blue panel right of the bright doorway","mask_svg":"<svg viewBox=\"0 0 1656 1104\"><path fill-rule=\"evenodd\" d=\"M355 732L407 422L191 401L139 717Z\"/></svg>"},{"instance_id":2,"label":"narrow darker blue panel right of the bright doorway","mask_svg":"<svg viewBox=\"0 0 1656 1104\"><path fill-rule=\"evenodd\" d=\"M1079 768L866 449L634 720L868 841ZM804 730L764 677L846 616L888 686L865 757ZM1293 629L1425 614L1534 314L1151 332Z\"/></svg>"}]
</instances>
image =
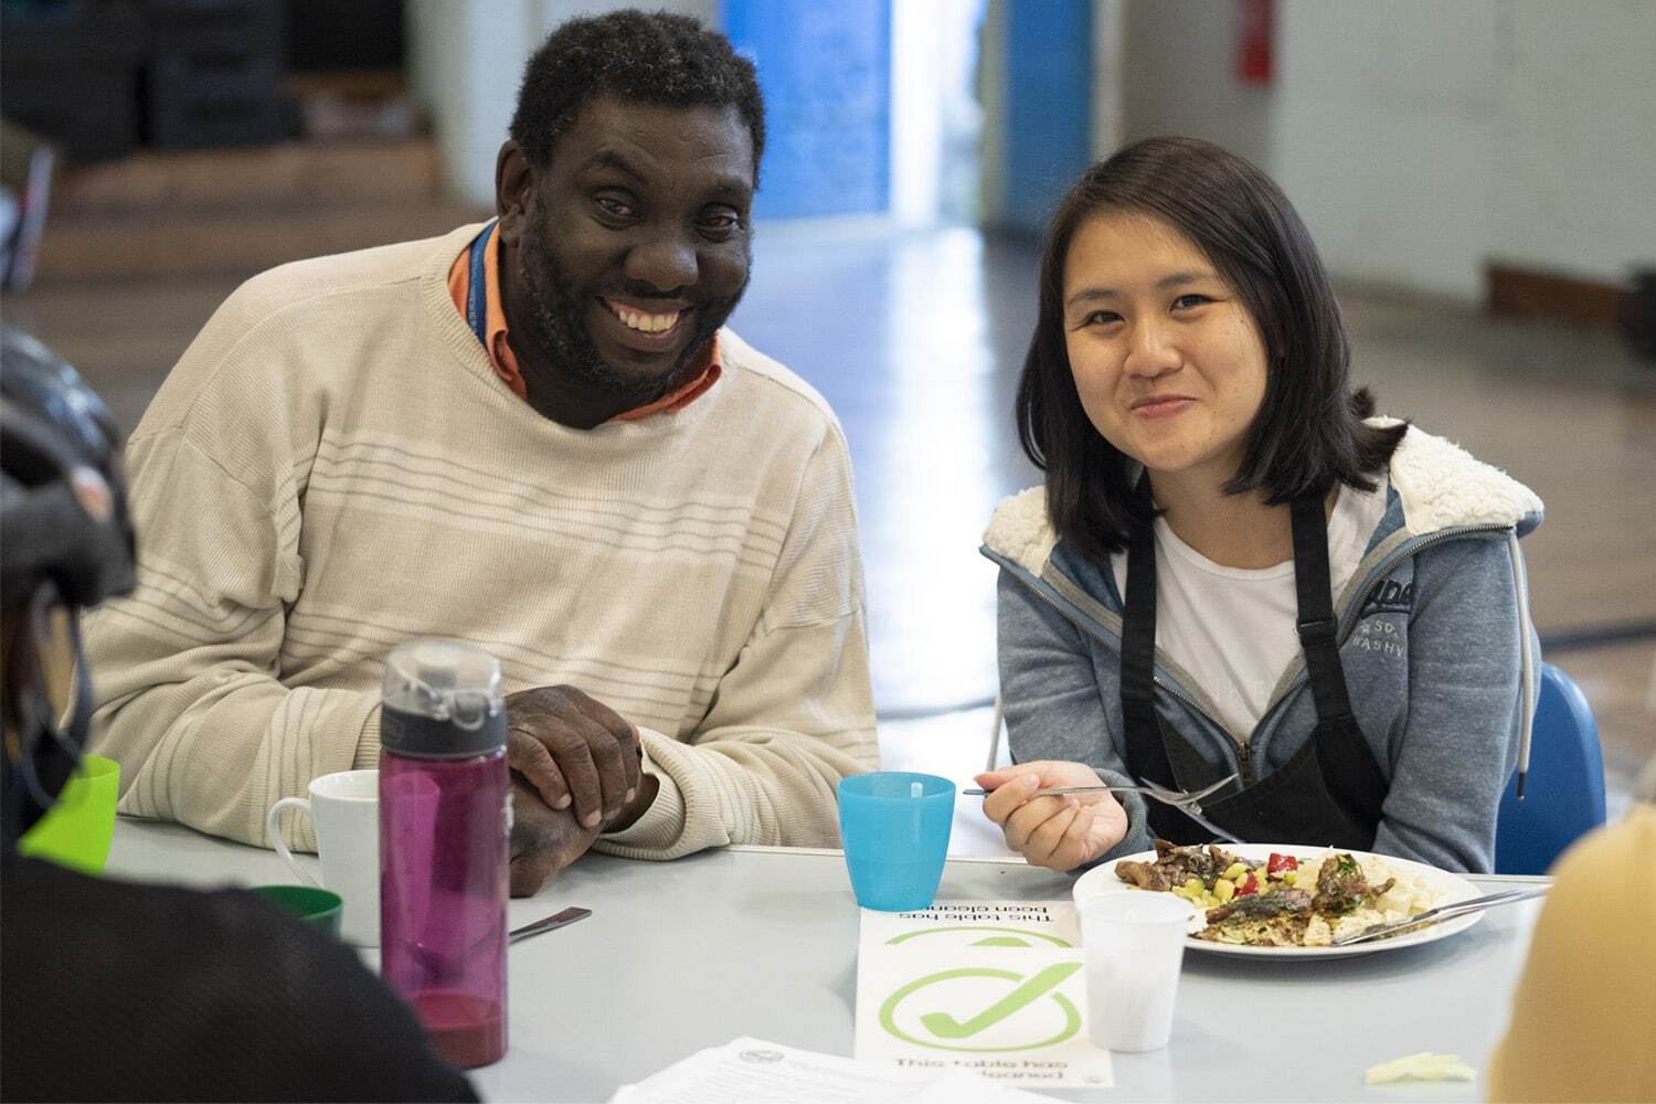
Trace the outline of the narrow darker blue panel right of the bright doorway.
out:
<instances>
[{"instance_id":1,"label":"narrow darker blue panel right of the bright doorway","mask_svg":"<svg viewBox=\"0 0 1656 1104\"><path fill-rule=\"evenodd\" d=\"M1091 118L1091 0L1007 0L1007 222L1047 227L1093 161Z\"/></svg>"}]
</instances>

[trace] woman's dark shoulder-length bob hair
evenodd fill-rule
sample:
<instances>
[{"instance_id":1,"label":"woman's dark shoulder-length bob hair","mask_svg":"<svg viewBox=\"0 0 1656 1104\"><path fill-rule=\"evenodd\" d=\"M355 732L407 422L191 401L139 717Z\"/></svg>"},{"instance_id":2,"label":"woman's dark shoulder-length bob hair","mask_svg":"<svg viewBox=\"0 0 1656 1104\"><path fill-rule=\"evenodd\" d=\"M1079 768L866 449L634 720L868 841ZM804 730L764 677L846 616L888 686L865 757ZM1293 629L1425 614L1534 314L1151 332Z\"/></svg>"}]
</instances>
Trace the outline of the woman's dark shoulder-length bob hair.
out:
<instances>
[{"instance_id":1,"label":"woman's dark shoulder-length bob hair","mask_svg":"<svg viewBox=\"0 0 1656 1104\"><path fill-rule=\"evenodd\" d=\"M1391 458L1406 425L1363 422L1374 402L1350 391L1351 346L1317 247L1288 197L1242 157L1194 137L1149 137L1086 170L1047 230L1040 316L1018 381L1018 440L1047 473L1047 513L1058 536L1101 563L1126 548L1148 508L1134 493L1138 462L1116 450L1081 409L1063 326L1063 266L1088 218L1129 212L1159 218L1217 268L1259 326L1268 358L1265 397L1225 492L1260 492L1270 505L1368 478Z\"/></svg>"}]
</instances>

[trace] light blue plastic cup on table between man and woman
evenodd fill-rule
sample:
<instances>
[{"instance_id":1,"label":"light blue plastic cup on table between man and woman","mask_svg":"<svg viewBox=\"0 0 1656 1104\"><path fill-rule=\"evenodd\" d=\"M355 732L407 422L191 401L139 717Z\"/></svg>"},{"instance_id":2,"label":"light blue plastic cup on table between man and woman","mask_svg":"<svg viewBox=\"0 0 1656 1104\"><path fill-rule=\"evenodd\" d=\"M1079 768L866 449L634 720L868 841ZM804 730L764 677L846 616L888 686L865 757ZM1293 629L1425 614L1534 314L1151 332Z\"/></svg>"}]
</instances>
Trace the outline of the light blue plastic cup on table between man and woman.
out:
<instances>
[{"instance_id":1,"label":"light blue plastic cup on table between man and woman","mask_svg":"<svg viewBox=\"0 0 1656 1104\"><path fill-rule=\"evenodd\" d=\"M931 907L949 857L954 783L876 771L840 781L840 839L856 904L881 912Z\"/></svg>"}]
</instances>

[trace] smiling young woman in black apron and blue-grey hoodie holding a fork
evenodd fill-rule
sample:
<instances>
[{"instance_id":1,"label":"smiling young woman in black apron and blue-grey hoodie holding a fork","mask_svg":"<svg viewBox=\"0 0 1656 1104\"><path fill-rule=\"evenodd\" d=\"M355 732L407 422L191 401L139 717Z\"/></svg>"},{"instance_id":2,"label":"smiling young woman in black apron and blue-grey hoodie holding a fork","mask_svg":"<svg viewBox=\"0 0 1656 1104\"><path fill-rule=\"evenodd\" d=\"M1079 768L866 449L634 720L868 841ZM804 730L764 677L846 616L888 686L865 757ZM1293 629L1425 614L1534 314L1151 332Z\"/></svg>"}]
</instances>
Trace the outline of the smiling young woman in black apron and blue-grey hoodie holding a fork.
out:
<instances>
[{"instance_id":1,"label":"smiling young woman in black apron and blue-grey hoodie holding a fork","mask_svg":"<svg viewBox=\"0 0 1656 1104\"><path fill-rule=\"evenodd\" d=\"M984 813L1066 871L1214 838L1487 871L1527 763L1525 487L1370 417L1282 190L1194 139L1095 166L1047 235L1018 384L1045 487L995 511L1017 766ZM1522 745L1522 746L1520 746ZM1138 794L1197 790L1199 821Z\"/></svg>"}]
</instances>

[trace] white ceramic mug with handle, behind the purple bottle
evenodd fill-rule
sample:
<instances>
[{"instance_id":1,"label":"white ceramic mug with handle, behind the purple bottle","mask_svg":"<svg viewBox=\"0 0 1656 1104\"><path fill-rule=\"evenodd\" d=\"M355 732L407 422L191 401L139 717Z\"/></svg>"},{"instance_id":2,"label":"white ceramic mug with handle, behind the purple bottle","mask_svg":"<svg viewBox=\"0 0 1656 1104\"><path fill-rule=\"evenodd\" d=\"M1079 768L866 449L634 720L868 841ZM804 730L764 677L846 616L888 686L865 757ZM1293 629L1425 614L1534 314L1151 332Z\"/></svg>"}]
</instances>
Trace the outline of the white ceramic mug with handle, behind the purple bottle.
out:
<instances>
[{"instance_id":1,"label":"white ceramic mug with handle, behind the purple bottle","mask_svg":"<svg viewBox=\"0 0 1656 1104\"><path fill-rule=\"evenodd\" d=\"M305 884L316 886L282 839L282 811L305 809L316 826L321 884L344 897L339 935L379 945L379 771L338 771L311 780L306 798L282 798L265 816L270 846Z\"/></svg>"}]
</instances>

